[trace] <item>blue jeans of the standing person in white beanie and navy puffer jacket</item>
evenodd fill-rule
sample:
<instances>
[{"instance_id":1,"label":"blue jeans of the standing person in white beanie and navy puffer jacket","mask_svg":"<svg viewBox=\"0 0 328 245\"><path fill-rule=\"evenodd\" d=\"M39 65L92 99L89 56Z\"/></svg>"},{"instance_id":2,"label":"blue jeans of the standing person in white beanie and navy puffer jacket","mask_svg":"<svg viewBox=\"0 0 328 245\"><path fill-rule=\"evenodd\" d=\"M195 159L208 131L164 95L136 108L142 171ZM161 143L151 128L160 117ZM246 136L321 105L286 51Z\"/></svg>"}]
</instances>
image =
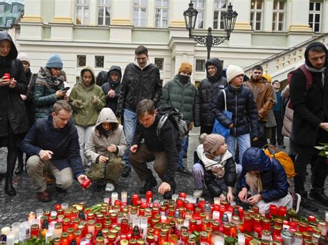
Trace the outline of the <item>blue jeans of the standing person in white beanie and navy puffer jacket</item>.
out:
<instances>
[{"instance_id":1,"label":"blue jeans of the standing person in white beanie and navy puffer jacket","mask_svg":"<svg viewBox=\"0 0 328 245\"><path fill-rule=\"evenodd\" d=\"M237 139L238 149L239 149L239 164L242 164L242 157L246 149L250 147L250 135L243 134L239 136L229 135L226 138L226 144L228 145L228 150L233 154L233 158L235 159L235 143Z\"/></svg>"}]
</instances>

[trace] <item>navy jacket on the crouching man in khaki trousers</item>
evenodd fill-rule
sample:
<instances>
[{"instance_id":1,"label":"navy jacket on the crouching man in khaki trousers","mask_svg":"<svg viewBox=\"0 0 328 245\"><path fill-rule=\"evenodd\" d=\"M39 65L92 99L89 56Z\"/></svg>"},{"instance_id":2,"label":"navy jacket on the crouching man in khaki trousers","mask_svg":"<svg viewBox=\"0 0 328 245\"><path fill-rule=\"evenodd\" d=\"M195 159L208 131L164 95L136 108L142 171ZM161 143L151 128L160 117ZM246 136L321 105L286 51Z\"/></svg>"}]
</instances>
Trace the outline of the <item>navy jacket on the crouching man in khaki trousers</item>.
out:
<instances>
[{"instance_id":1,"label":"navy jacket on the crouching man in khaki trousers","mask_svg":"<svg viewBox=\"0 0 328 245\"><path fill-rule=\"evenodd\" d=\"M62 129L53 127L53 116L51 115L35 121L21 143L21 149L30 156L39 155L42 149L51 150L53 152L51 163L59 170L71 167L76 178L84 173L78 130L73 125L72 119Z\"/></svg>"}]
</instances>

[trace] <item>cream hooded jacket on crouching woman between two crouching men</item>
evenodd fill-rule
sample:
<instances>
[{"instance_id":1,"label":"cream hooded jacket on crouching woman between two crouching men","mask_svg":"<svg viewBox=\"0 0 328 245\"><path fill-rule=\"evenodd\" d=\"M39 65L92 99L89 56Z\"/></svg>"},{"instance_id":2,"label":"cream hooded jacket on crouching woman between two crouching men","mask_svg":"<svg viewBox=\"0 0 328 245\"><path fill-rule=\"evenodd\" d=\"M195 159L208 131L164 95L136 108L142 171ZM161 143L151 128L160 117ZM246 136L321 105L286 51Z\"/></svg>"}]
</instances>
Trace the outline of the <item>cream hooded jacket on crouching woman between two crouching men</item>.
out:
<instances>
[{"instance_id":1,"label":"cream hooded jacket on crouching woman between two crouching men","mask_svg":"<svg viewBox=\"0 0 328 245\"><path fill-rule=\"evenodd\" d=\"M116 124L116 129L109 130L108 136L100 135L97 126L101 123L114 123ZM123 127L118 123L118 120L110 108L103 108L100 111L98 116L97 123L91 132L91 136L86 143L86 147L84 148L84 156L90 159L93 163L100 156L108 156L109 152L107 151L107 147L111 146L111 144L116 145L118 147L118 156L123 156L125 153L125 149L127 149L127 143L125 141L125 135L123 132Z\"/></svg>"}]
</instances>

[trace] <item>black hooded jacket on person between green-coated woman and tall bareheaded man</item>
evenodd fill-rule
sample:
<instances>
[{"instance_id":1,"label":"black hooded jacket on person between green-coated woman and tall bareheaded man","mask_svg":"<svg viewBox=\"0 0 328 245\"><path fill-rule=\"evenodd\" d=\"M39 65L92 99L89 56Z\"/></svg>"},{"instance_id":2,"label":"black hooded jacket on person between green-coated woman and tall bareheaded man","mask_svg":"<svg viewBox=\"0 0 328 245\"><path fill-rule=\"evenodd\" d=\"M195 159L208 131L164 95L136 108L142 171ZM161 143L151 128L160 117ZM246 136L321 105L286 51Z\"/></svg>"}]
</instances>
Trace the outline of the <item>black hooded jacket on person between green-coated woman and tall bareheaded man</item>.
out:
<instances>
[{"instance_id":1,"label":"black hooded jacket on person between green-coated woman and tall bareheaded man","mask_svg":"<svg viewBox=\"0 0 328 245\"><path fill-rule=\"evenodd\" d=\"M118 82L111 81L111 72L117 71L120 74L120 77L118 78ZM104 107L110 108L114 113L116 112L118 108L118 98L120 97L120 80L122 78L122 71L120 69L120 66L111 66L107 73L107 82L102 84L102 91L104 92L104 100L106 101L106 105ZM110 90L115 91L115 96L113 98L110 98L108 96L108 92Z\"/></svg>"}]
</instances>

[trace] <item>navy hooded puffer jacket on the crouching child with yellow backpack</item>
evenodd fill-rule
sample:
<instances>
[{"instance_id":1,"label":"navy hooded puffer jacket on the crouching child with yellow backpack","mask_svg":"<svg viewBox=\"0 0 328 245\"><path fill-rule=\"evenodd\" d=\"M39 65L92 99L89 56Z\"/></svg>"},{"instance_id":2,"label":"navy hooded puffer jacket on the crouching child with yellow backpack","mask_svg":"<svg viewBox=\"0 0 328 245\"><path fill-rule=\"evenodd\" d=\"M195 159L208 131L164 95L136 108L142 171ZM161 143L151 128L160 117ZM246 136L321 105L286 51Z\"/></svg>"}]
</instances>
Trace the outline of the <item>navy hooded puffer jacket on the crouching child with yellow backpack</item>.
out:
<instances>
[{"instance_id":1,"label":"navy hooded puffer jacket on the crouching child with yellow backpack","mask_svg":"<svg viewBox=\"0 0 328 245\"><path fill-rule=\"evenodd\" d=\"M242 176L239 180L241 188L249 189L245 179L246 172L259 171L263 188L259 194L265 202L282 199L288 194L288 182L284 168L275 158L270 159L262 149L256 147L246 149L242 158L242 167Z\"/></svg>"}]
</instances>

